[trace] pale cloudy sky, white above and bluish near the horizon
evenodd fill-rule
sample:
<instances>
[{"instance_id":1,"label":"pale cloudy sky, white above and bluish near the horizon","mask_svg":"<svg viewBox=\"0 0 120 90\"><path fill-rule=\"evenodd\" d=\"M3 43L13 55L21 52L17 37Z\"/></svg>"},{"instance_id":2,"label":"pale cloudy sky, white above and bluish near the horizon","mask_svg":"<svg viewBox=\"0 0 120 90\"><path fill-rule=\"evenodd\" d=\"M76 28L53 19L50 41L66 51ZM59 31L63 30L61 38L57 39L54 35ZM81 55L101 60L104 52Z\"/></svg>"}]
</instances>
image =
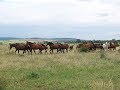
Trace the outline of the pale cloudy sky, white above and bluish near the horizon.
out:
<instances>
[{"instance_id":1,"label":"pale cloudy sky, white above and bluish near the horizon","mask_svg":"<svg viewBox=\"0 0 120 90\"><path fill-rule=\"evenodd\" d=\"M120 39L120 0L0 0L0 37Z\"/></svg>"}]
</instances>

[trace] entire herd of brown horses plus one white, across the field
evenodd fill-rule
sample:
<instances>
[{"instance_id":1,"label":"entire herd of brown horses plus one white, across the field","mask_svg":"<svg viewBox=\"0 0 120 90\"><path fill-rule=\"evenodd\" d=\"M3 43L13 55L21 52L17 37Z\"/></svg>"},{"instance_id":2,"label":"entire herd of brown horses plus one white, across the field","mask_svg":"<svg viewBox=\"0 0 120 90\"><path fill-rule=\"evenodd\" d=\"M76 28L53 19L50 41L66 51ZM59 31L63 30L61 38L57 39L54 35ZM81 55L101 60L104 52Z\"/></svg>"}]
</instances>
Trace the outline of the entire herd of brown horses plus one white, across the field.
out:
<instances>
[{"instance_id":1,"label":"entire herd of brown horses plus one white, across the field","mask_svg":"<svg viewBox=\"0 0 120 90\"><path fill-rule=\"evenodd\" d=\"M45 44L40 44L40 43L32 43L32 42L28 42L26 41L26 43L12 43L9 44L10 45L10 50L14 47L15 53L18 52L20 50L23 51L23 54L26 53L26 51L32 54L32 52L34 51L34 53L36 54L36 50L39 50L39 53L42 53L42 51L44 50L45 53L47 53L48 48L50 49L50 53L54 53L54 50L57 51L57 53L65 53L68 51L71 51L74 48L74 45L69 45L69 44L61 44L61 43L52 43L52 42L47 42L46 45ZM48 47L49 46L49 47ZM79 49L81 47L85 47L88 48L89 50L97 50L97 49L101 49L101 50L116 50L116 47L119 46L118 44L114 44L112 42L106 42L106 43L93 43L91 42L83 42L80 43L76 46L76 49Z\"/></svg>"}]
</instances>

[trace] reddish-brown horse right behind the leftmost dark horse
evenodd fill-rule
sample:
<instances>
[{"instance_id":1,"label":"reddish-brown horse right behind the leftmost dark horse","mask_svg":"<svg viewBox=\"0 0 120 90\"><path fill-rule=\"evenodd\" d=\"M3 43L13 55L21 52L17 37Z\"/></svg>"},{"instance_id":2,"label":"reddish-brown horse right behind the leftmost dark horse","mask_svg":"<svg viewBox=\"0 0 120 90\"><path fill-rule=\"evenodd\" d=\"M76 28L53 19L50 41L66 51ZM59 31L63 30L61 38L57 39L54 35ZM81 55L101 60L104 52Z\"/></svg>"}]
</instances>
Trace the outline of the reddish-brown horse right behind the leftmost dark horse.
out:
<instances>
[{"instance_id":1,"label":"reddish-brown horse right behind the leftmost dark horse","mask_svg":"<svg viewBox=\"0 0 120 90\"><path fill-rule=\"evenodd\" d=\"M32 50L34 51L35 54L36 54L35 50L39 50L39 53L42 53L42 50L45 50L45 52L47 52L47 47L43 44L36 44L27 41L27 45L30 47L31 54Z\"/></svg>"}]
</instances>

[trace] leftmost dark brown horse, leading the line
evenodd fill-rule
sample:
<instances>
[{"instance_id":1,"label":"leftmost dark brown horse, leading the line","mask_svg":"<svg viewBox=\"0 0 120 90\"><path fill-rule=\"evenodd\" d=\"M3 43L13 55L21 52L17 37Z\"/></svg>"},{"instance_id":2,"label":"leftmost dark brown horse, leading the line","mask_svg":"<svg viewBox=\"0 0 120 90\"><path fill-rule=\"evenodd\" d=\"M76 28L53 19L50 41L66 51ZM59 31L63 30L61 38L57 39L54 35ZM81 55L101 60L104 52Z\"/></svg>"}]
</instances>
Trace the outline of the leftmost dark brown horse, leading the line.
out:
<instances>
[{"instance_id":1,"label":"leftmost dark brown horse, leading the line","mask_svg":"<svg viewBox=\"0 0 120 90\"><path fill-rule=\"evenodd\" d=\"M10 45L10 50L12 49L12 47L14 47L16 49L16 51L18 51L18 54L19 54L19 50L23 50L23 54L26 53L26 50L29 54L29 46L27 46L26 44L24 43L13 43L13 44L9 44ZM15 53L16 53L15 51Z\"/></svg>"}]
</instances>

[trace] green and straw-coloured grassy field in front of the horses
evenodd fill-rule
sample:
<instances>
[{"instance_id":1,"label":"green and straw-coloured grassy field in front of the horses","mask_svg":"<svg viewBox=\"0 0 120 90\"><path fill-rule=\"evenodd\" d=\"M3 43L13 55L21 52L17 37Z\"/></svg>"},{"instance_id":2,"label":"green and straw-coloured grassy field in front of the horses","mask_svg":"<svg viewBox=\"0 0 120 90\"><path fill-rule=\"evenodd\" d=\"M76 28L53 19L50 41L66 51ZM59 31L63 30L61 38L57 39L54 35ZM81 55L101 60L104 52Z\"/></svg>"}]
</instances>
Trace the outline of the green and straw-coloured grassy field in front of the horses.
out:
<instances>
[{"instance_id":1,"label":"green and straw-coloured grassy field in front of the horses","mask_svg":"<svg viewBox=\"0 0 120 90\"><path fill-rule=\"evenodd\" d=\"M14 49L13 49L14 51ZM120 53L18 55L0 45L0 90L120 90Z\"/></svg>"}]
</instances>

